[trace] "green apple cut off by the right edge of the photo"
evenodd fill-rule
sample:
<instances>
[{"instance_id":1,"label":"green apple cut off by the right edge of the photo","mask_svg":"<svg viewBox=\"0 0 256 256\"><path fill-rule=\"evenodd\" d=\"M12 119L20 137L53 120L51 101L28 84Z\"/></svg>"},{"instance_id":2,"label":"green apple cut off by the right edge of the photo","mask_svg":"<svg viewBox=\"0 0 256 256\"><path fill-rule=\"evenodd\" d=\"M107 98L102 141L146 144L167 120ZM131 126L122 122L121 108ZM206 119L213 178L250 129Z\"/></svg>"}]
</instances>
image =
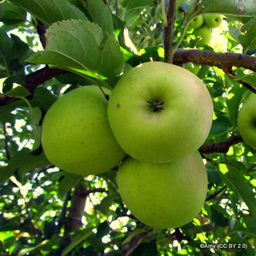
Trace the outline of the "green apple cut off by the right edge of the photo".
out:
<instances>
[{"instance_id":1,"label":"green apple cut off by the right edge of the photo","mask_svg":"<svg viewBox=\"0 0 256 256\"><path fill-rule=\"evenodd\" d=\"M256 94L250 94L238 114L238 130L246 144L256 150Z\"/></svg>"}]
</instances>

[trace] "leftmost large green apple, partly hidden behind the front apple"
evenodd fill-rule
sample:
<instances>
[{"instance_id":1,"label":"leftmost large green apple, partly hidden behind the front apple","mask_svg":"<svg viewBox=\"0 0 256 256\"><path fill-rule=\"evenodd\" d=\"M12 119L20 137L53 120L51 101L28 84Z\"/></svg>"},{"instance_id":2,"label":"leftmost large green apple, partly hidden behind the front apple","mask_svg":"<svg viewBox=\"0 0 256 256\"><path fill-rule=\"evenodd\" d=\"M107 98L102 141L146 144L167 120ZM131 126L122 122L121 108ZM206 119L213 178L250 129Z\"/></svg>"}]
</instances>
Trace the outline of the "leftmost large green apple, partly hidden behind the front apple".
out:
<instances>
[{"instance_id":1,"label":"leftmost large green apple, partly hidden behind the front apple","mask_svg":"<svg viewBox=\"0 0 256 256\"><path fill-rule=\"evenodd\" d=\"M42 148L55 166L83 176L110 170L126 156L110 129L107 100L98 86L79 87L54 102L42 122Z\"/></svg>"}]
</instances>

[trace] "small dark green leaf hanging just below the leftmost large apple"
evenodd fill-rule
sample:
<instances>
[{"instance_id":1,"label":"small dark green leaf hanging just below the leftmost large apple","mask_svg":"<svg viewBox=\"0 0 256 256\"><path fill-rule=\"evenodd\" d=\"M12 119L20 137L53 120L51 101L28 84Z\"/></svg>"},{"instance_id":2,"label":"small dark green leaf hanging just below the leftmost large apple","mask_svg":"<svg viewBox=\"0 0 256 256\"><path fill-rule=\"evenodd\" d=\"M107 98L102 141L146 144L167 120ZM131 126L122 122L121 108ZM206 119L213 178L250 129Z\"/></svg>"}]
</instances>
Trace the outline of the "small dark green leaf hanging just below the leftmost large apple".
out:
<instances>
[{"instance_id":1,"label":"small dark green leaf hanging just below the leftmost large apple","mask_svg":"<svg viewBox=\"0 0 256 256\"><path fill-rule=\"evenodd\" d=\"M78 182L82 179L81 175L70 174L67 172L63 172L64 178L59 182L58 185L58 195L60 197L64 197L65 194L74 186L78 184Z\"/></svg>"}]
</instances>

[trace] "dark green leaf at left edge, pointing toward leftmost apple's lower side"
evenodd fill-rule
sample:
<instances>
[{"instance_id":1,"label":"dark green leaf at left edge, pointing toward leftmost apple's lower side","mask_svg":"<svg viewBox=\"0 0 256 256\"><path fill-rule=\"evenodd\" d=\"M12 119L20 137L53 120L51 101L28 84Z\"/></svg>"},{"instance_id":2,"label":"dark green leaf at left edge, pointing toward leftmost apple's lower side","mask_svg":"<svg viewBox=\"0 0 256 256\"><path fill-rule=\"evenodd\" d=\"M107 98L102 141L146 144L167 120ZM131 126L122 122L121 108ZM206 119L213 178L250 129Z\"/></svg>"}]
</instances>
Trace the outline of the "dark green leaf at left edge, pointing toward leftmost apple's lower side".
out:
<instances>
[{"instance_id":1,"label":"dark green leaf at left edge, pointing toward leftmost apple's lower side","mask_svg":"<svg viewBox=\"0 0 256 256\"><path fill-rule=\"evenodd\" d=\"M18 174L26 174L27 172L39 167L48 166L50 162L46 159L44 154L33 155L29 149L22 149L18 151L7 166L0 166L0 182L4 182L7 178L12 176L15 171Z\"/></svg>"}]
</instances>

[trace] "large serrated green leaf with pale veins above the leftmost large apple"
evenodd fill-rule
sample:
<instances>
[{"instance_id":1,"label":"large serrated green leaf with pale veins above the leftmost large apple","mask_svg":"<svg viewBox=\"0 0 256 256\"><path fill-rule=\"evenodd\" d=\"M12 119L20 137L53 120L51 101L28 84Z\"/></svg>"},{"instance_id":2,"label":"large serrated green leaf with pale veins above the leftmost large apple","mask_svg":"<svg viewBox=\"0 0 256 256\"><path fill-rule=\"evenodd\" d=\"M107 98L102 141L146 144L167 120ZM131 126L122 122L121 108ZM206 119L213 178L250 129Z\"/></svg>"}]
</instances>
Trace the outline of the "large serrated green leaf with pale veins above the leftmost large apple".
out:
<instances>
[{"instance_id":1,"label":"large serrated green leaf with pale veins above the leftmost large apple","mask_svg":"<svg viewBox=\"0 0 256 256\"><path fill-rule=\"evenodd\" d=\"M102 29L94 23L69 20L54 23L46 31L46 50L33 54L28 62L54 65L76 74L110 78L124 62L114 37L103 41Z\"/></svg>"}]
</instances>

